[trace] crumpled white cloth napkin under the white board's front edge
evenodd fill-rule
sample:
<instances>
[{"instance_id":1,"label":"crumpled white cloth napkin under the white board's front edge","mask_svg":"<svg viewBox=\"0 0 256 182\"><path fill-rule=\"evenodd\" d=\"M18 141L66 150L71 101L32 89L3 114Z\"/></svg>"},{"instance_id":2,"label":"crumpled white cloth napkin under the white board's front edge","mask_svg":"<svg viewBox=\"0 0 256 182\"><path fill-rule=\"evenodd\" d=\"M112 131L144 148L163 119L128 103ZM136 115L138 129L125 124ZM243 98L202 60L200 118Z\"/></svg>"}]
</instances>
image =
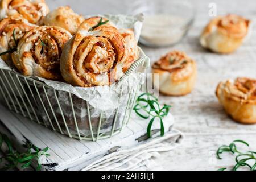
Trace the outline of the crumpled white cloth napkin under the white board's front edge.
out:
<instances>
[{"instance_id":1,"label":"crumpled white cloth napkin under the white board's front edge","mask_svg":"<svg viewBox=\"0 0 256 182\"><path fill-rule=\"evenodd\" d=\"M133 148L113 152L93 162L83 170L100 171L127 171L127 170L161 170L154 158L159 152L171 151L179 146L183 134L172 129L163 137L148 139Z\"/></svg>"}]
</instances>

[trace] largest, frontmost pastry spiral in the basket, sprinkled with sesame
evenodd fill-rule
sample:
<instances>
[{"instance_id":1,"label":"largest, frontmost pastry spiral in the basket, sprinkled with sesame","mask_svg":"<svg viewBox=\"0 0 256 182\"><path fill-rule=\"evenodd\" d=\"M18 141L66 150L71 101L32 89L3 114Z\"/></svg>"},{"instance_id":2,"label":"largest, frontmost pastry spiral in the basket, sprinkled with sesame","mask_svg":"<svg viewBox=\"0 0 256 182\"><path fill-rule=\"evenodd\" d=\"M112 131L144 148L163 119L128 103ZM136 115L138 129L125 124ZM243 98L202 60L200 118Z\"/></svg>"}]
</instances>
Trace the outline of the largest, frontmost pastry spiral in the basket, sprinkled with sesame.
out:
<instances>
[{"instance_id":1,"label":"largest, frontmost pastry spiral in the basket, sprinkled with sesame","mask_svg":"<svg viewBox=\"0 0 256 182\"><path fill-rule=\"evenodd\" d=\"M127 48L122 35L114 27L101 25L92 32L77 32L65 44L61 75L73 86L110 85L123 75L126 59Z\"/></svg>"}]
</instances>

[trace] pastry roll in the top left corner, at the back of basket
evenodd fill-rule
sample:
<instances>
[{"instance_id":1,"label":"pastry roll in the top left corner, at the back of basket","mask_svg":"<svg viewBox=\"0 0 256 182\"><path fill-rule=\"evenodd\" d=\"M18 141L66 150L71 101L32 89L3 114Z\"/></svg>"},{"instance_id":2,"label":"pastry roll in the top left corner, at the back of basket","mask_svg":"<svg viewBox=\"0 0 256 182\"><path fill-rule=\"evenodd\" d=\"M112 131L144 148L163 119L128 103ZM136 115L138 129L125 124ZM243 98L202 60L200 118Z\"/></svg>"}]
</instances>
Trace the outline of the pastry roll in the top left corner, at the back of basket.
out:
<instances>
[{"instance_id":1,"label":"pastry roll in the top left corner, at the back of basket","mask_svg":"<svg viewBox=\"0 0 256 182\"><path fill-rule=\"evenodd\" d=\"M49 13L44 0L2 0L0 1L0 18L10 15L22 15L30 23L38 23Z\"/></svg>"}]
</instances>

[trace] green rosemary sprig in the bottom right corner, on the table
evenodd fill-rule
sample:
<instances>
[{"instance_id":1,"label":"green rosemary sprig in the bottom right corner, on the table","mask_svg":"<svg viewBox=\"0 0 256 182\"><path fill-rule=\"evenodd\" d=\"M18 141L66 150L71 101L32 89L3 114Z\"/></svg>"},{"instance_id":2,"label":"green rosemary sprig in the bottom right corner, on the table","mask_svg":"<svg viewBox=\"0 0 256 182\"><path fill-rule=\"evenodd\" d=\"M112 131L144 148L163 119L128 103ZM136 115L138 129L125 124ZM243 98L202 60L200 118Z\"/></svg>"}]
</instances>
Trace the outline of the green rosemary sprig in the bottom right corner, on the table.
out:
<instances>
[{"instance_id":1,"label":"green rosemary sprig in the bottom right corner, on the table","mask_svg":"<svg viewBox=\"0 0 256 182\"><path fill-rule=\"evenodd\" d=\"M256 152L254 151L247 151L247 152L240 152L237 150L236 143L242 143L245 144L247 147L249 147L249 144L243 140L234 140L232 143L230 143L228 146L223 145L220 148L218 148L216 152L217 159L222 159L220 157L220 154L223 152L230 152L231 154L237 154L236 155L236 165L233 167L233 171L237 171L238 168L240 167L249 167L251 171L256 170ZM253 166L250 164L246 163L249 161L254 161ZM221 168L218 171L224 171L226 168Z\"/></svg>"}]
</instances>

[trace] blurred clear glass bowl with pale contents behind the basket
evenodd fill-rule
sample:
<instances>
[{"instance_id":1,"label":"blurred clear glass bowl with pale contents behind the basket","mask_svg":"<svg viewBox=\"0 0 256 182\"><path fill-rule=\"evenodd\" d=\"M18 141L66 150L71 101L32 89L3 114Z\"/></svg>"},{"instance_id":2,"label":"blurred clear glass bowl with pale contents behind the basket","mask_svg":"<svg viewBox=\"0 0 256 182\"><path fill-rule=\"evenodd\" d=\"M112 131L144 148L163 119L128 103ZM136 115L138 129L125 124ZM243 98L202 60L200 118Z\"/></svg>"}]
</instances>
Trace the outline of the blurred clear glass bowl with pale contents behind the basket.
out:
<instances>
[{"instance_id":1,"label":"blurred clear glass bowl with pale contents behind the basket","mask_svg":"<svg viewBox=\"0 0 256 182\"><path fill-rule=\"evenodd\" d=\"M151 47L180 42L195 18L195 8L189 1L138 0L129 7L128 13L144 14L139 42Z\"/></svg>"}]
</instances>

